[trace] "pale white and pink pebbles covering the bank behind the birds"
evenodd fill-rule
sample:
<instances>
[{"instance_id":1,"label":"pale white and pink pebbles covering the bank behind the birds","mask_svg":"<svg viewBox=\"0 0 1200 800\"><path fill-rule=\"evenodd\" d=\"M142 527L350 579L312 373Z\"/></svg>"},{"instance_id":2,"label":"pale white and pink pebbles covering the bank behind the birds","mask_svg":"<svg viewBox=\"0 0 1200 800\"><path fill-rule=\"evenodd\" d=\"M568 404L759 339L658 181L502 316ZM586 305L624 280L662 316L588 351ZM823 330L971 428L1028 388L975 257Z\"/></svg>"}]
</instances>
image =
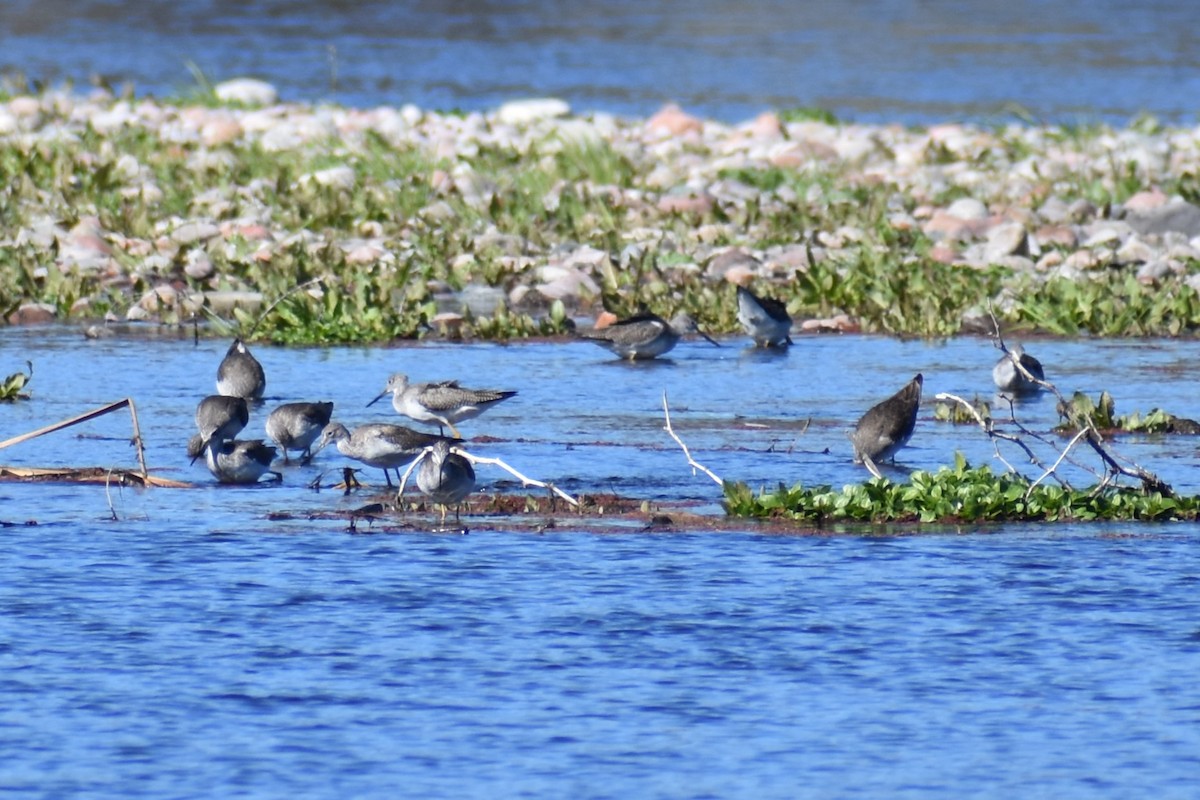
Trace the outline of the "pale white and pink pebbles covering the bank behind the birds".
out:
<instances>
[{"instance_id":1,"label":"pale white and pink pebbles covering the bank behind the birds","mask_svg":"<svg viewBox=\"0 0 1200 800\"><path fill-rule=\"evenodd\" d=\"M822 225L818 219L810 230L790 231L794 241L780 242L780 231L764 235L751 210L761 216L826 209L853 203L847 197L858 187L888 187L893 196L884 211L887 224L905 236L919 229L932 241L929 257L946 264L1004 264L1018 272L1037 272L1039 278L1073 279L1088 279L1100 265L1127 266L1152 283L1172 279L1200 253L1200 207L1160 188L1174 186L1178 175L1200 174L1200 137L1189 130L1162 134L1105 131L1063 140L1036 127L990 130L953 122L923 132L896 125L785 122L769 112L725 125L678 106L666 106L646 120L571 116L570 106L557 98L515 100L490 114L466 115L414 106L281 104L274 86L253 79L224 82L216 91L230 106L176 108L152 100L68 92L0 102L0 136L22 142L73 142L91 125L101 140L90 151L76 152L77 163L112 166L121 201L143 204L150 215L150 231L133 236L104 230L96 217L84 217L67 231L56 221L56 210L34 207L6 233L7 240L47 252L56 248L54 263L43 271L54 264L89 271L107 289L130 293L144 290L146 276L161 276L152 284L176 277L180 267L188 279L214 281L221 277L226 259L265 264L278 248L293 246L310 253L337 247L347 263L368 269L413 258L407 231L444 227L458 235L463 204L486 215L496 201L506 199L512 188L503 182L508 179L497 184L490 170L476 172L470 162L475 156L502 154L529 158L530 167L538 167L534 154L548 163L578 145L610 149L634 167L632 185L608 176L558 180L541 186L533 201L540 201L547 213L560 213L572 193L599 200L624 215L622 239L610 243L602 235L606 223L596 213L582 215L576 221L578 241L568 242L500 233L484 227L485 221L462 234L469 236L468 252L457 265L478 270L475 254L486 253L478 260L496 259L504 288L468 285L461 296L448 293L445 299L455 305L448 313L466 307L491 315L497 303L505 302L539 308L547 300L594 302L599 287L610 285L622 269L632 266L630 253L672 254L670 267L646 287L672 300L678 300L673 282L683 275L700 273L712 284L746 283L787 279L809 269L810 258L850 263L859 248L878 246L877 231L828 221ZM203 186L191 198L186 217L169 217L157 211L164 193L155 182L152 162L120 150L107 138L126 127L151 128L163 148L186 154L187 169L198 174L238 167L241 146L294 151L296 163L325 166L304 174L298 185L348 193L410 188L408 178L376 182L368 172L355 172L352 164L370 134L444 163L415 178L427 182L432 197L415 213L407 211L408 219L360 221L346 230L289 229L272 217L268 205L275 191L269 178L222 188ZM1013 143L1020 146L1012 148ZM1026 155L1016 158L1009 155L1014 151ZM335 160L329 166L331 155ZM1100 211L1088 200L1070 199L1068 190L1061 188L1062 181L1081 175L1092 180L1097 169L1111 172L1114 164L1124 169L1135 162L1144 188L1120 206ZM809 180L809 172L820 180ZM782 180L768 185L758 180L776 175ZM776 243L764 247L763 241ZM127 302L140 308L132 313L150 318L170 305L172 289L163 283ZM174 290L176 307L193 302ZM263 303L254 291L209 293L206 297L217 313ZM36 313L30 308L25 317ZM450 318L443 321L454 324ZM812 330L852 330L854 320L808 324Z\"/></svg>"}]
</instances>

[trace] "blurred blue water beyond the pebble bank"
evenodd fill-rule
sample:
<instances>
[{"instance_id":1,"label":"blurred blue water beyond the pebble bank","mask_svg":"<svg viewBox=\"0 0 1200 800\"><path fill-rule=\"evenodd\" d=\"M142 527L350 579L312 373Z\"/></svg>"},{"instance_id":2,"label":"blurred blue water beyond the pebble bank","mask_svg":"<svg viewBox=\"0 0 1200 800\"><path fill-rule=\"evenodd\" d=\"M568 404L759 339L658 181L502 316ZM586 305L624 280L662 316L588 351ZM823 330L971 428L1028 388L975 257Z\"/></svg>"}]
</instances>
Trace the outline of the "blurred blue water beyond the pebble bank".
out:
<instances>
[{"instance_id":1,"label":"blurred blue water beyond the pebble bank","mask_svg":"<svg viewBox=\"0 0 1200 800\"><path fill-rule=\"evenodd\" d=\"M490 109L552 95L581 113L666 102L727 121L821 107L853 120L1194 122L1187 0L12 0L0 71L139 92L254 76L286 100Z\"/></svg>"}]
</instances>

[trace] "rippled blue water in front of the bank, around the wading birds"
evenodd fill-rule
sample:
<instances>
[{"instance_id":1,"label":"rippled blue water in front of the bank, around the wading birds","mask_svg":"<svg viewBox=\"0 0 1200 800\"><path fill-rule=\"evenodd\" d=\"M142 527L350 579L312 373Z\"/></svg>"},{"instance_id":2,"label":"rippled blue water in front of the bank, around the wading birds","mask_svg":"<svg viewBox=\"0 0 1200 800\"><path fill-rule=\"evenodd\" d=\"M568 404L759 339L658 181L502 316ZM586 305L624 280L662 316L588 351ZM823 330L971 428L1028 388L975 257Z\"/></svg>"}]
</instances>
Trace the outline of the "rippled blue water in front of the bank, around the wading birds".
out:
<instances>
[{"instance_id":1,"label":"rippled blue water in front of the bank, around the wading birds","mask_svg":"<svg viewBox=\"0 0 1200 800\"><path fill-rule=\"evenodd\" d=\"M0 331L34 399L0 439L120 397L152 467L193 489L0 485L0 787L25 796L1162 796L1200 775L1200 527L1012 525L920 536L743 531L344 534L305 511L360 497L220 487L182 447L224 342ZM389 372L520 395L464 423L575 492L714 510L661 431L752 485L864 477L845 431L917 371L989 390L995 351L830 336L764 356L738 339L626 365L587 343L256 348L275 402L349 423ZM1063 389L1200 417L1200 343L1027 343ZM467 379L469 377L469 380ZM378 411L378 413L376 413ZM1020 409L1038 428L1052 402ZM247 432L260 431L264 414ZM804 421L809 420L806 429ZM767 427L746 427L746 422ZM77 438L76 434L84 438ZM127 417L2 451L5 464L133 465ZM736 447L736 449L734 449ZM906 467L968 427L923 409ZM826 452L828 450L828 452ZM1120 450L1195 492L1194 439ZM378 481L379 476L364 475ZM504 477L480 468L485 489ZM112 510L109 504L112 503ZM112 511L116 512L114 521ZM300 518L275 522L275 511ZM418 521L427 517L418 518Z\"/></svg>"}]
</instances>

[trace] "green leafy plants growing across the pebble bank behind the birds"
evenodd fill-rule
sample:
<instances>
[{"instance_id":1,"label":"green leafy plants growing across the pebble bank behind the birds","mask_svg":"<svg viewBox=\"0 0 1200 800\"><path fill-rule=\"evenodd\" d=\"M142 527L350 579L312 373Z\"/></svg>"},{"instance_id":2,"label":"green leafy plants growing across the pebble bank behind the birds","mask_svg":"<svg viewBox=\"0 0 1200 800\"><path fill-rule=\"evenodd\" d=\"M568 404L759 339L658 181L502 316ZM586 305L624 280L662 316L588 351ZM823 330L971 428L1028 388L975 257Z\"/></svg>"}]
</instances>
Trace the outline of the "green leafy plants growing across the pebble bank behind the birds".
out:
<instances>
[{"instance_id":1,"label":"green leafy plants growing across the pebble bank behind the birds","mask_svg":"<svg viewBox=\"0 0 1200 800\"><path fill-rule=\"evenodd\" d=\"M737 134L648 150L636 122L602 134L554 126L530 133L479 115L426 114L386 128L346 124L347 114L361 112L296 107L294 130L280 121L284 133L270 139L268 109L218 103L203 77L197 84L188 106L155 106L154 124L132 112L125 122L101 124L43 100L37 136L0 136L0 185L7 187L0 225L10 240L0 247L0 312L44 302L60 319L124 315L170 284L193 296L262 293L270 313L235 321L257 338L289 343L562 333L572 314L601 303L618 313L688 311L712 332L734 332L732 289L706 265L738 247L762 261L792 248L786 266L772 266L769 294L793 317L844 313L868 332L953 335L989 302L1008 331L1178 336L1200 329L1200 293L1186 282L1200 264L1186 254L1182 271L1154 281L1139 278L1136 264L1104 261L1063 277L946 264L922 230L929 209L962 197L989 207L1086 200L1097 219L1151 186L1200 197L1200 164L1156 172L1106 143L1112 132L1103 126L1007 125L965 144L929 139L907 156L935 170L929 179L898 166L898 142L919 142L916 130L880 128L847 155L802 143L787 161L749 155ZM94 113L137 103L114 100ZM211 142L200 133L203 120L241 126L253 114L253 131L238 127ZM180 133L192 119L200 120L193 133ZM779 119L844 131L814 109ZM1169 134L1152 119L1130 131ZM788 137L780 144L788 146ZM1054 172L1048 148L1078 157L1055 161ZM1012 173L1026 162L1014 199ZM948 176L956 173L936 172L947 166L977 176L955 182ZM695 197L695 205L665 203ZM173 239L197 219L220 225L220 235ZM256 225L263 230L252 231ZM104 258L89 261L68 246L80 228L95 229ZM556 306L534 288L529 302L514 301L496 315L434 323L444 308L438 295L468 284L505 294L536 287L541 266L583 246L610 259L583 267L599 293L581 290L551 313ZM1055 248L1073 251L1043 251ZM202 257L210 270L187 269ZM192 311L155 313L179 323Z\"/></svg>"}]
</instances>

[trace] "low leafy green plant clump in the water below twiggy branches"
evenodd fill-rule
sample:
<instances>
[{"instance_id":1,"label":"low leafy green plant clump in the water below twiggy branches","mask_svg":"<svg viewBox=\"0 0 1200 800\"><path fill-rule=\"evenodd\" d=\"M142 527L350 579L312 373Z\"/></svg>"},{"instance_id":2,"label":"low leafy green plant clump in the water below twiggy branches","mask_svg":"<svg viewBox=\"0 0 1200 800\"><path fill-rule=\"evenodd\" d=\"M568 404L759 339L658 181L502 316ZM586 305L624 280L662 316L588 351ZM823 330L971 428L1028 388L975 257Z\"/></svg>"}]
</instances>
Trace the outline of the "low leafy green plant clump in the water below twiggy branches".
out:
<instances>
[{"instance_id":1,"label":"low leafy green plant clump in the water below twiggy branches","mask_svg":"<svg viewBox=\"0 0 1200 800\"><path fill-rule=\"evenodd\" d=\"M1024 477L970 467L960 456L953 468L916 471L910 482L872 479L840 491L780 485L757 494L742 482L725 485L725 510L736 517L835 523L984 523L1093 519L1196 519L1200 497L1105 487L1069 489L1054 483L1031 486Z\"/></svg>"}]
</instances>

